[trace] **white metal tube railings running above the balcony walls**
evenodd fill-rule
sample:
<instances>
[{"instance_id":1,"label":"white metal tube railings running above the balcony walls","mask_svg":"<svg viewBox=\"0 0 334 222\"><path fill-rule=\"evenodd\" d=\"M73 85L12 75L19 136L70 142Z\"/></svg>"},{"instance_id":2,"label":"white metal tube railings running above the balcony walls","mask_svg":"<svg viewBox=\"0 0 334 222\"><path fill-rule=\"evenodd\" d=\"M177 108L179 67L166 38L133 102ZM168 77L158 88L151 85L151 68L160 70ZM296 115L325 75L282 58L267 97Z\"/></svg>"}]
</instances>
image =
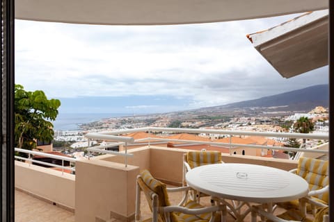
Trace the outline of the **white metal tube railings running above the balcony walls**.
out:
<instances>
[{"instance_id":1,"label":"white metal tube railings running above the balcony walls","mask_svg":"<svg viewBox=\"0 0 334 222\"><path fill-rule=\"evenodd\" d=\"M196 140L187 140L187 139L166 139L166 138L159 138L159 137L146 137L142 139L134 139L133 137L125 137L120 136L127 133L138 133L138 132L164 132L164 133L196 133L196 134L215 134L215 135L225 135L230 137L229 143L222 143L222 142L205 142L205 141L196 141ZM267 150L280 150L280 151L293 151L293 152L305 152L305 153L328 153L327 150L321 150L317 148L288 148L283 146L264 146L264 145L255 145L255 144L235 144L232 143L232 136L262 136L262 137L281 137L281 138L298 138L298 139L321 139L321 140L328 140L328 134L314 134L314 133L271 133L271 132L253 132L253 131L234 131L234 130L207 130L207 129L190 129L190 128L154 128L154 127L146 127L146 128L136 128L136 129L129 129L129 130L113 130L108 132L101 132L101 133L88 133L86 137L89 139L101 139L101 140L109 140L113 142L109 142L109 144L103 146L94 146L89 147L88 151L93 153L104 153L104 154L112 154L112 155L120 155L125 157L125 166L127 166L127 157L132 157L132 153L127 153L127 146L129 144L136 144L139 142L148 142L148 146L154 141L155 143L164 143L164 142L183 142L187 144L207 144L211 146L221 146L223 148L230 149L230 155L232 155L232 148L234 147L246 147L246 148L262 148ZM157 142L159 141L159 142ZM125 146L125 152L117 152L117 151L108 151L106 148L113 147L113 146ZM15 159L17 160L26 160L30 163L38 163L43 164L49 167L58 167L64 171L65 169L70 170L71 172L75 171L74 167L65 167L64 161L68 161L70 163L75 163L76 159L71 157L62 157L59 155L53 155L48 153L42 153L37 151L29 151L22 148L15 148L15 151L20 153L27 153L29 155L28 158L20 157L15 155ZM42 162L39 160L33 160L32 155L40 155L43 157L50 157L56 160L61 160L62 165L58 164L51 164L48 162Z\"/></svg>"}]
</instances>

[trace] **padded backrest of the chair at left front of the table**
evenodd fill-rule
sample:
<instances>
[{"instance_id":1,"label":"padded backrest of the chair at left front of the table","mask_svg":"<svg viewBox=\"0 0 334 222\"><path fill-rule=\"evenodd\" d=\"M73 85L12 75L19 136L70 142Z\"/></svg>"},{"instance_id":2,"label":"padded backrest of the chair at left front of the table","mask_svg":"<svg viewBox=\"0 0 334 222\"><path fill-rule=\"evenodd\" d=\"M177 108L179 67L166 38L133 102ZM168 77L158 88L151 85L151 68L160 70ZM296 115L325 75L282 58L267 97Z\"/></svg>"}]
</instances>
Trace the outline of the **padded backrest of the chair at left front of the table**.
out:
<instances>
[{"instance_id":1,"label":"padded backrest of the chair at left front of the table","mask_svg":"<svg viewBox=\"0 0 334 222\"><path fill-rule=\"evenodd\" d=\"M137 178L137 183L145 194L145 198L148 200L151 211L154 210L154 206L152 205L153 194L157 194L158 196L157 207L166 207L170 205L166 184L153 178L150 171L142 171L140 176ZM166 221L166 216L164 213L159 212L158 221ZM173 216L170 217L170 221L175 221Z\"/></svg>"}]
</instances>

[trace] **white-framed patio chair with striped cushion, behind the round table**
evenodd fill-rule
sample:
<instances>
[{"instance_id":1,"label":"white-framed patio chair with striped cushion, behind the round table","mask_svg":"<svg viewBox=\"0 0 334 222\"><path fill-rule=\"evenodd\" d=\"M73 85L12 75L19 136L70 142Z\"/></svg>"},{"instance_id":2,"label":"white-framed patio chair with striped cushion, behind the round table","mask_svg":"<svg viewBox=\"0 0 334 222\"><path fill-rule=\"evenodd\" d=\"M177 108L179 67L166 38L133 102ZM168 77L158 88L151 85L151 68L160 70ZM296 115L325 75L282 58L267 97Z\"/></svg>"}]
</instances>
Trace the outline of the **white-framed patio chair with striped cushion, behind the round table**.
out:
<instances>
[{"instance_id":1,"label":"white-framed patio chair with striped cushion, behind the round table","mask_svg":"<svg viewBox=\"0 0 334 222\"><path fill-rule=\"evenodd\" d=\"M183 155L183 177L182 177L182 185L187 186L186 184L186 173L191 171L191 169L195 167L200 167L207 164L221 164L224 163L221 160L221 152L219 151L190 151L188 153L184 153ZM200 202L200 197L207 196L205 194L201 194L198 191L195 191L192 194L191 198L193 200L197 200Z\"/></svg>"}]
</instances>

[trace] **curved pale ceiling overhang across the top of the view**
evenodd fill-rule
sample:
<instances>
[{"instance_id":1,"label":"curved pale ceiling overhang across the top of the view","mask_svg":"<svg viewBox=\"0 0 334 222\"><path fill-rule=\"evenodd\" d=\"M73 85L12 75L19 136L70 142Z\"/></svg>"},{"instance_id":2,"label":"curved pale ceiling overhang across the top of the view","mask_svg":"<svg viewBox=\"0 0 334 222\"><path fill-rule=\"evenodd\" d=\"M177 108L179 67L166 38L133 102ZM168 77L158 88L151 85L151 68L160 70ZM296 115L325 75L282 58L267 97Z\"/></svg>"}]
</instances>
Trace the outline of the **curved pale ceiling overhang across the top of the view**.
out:
<instances>
[{"instance_id":1,"label":"curved pale ceiling overhang across the top of the view","mask_svg":"<svg viewBox=\"0 0 334 222\"><path fill-rule=\"evenodd\" d=\"M191 24L328 8L328 0L15 0L15 18L74 24Z\"/></svg>"}]
</instances>

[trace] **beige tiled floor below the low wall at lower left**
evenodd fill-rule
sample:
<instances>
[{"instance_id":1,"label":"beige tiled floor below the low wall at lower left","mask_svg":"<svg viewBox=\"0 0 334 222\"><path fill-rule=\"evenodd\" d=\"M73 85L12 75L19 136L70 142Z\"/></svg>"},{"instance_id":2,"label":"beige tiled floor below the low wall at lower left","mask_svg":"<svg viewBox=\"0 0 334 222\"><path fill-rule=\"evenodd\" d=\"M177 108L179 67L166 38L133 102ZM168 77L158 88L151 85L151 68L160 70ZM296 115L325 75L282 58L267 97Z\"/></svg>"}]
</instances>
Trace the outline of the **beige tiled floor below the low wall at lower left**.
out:
<instances>
[{"instance_id":1,"label":"beige tiled floor below the low wall at lower left","mask_svg":"<svg viewBox=\"0 0 334 222\"><path fill-rule=\"evenodd\" d=\"M74 213L15 189L15 222L74 222Z\"/></svg>"}]
</instances>

